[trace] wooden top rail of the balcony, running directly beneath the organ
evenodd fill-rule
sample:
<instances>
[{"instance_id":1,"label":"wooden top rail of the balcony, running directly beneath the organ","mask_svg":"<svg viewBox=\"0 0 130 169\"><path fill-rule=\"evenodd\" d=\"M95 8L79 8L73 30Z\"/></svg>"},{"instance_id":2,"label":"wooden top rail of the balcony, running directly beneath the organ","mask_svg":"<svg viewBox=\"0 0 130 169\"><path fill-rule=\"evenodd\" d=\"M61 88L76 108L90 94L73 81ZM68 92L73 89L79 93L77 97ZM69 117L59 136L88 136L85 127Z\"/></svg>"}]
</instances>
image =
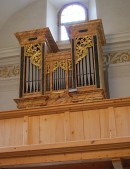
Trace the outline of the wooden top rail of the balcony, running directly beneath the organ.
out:
<instances>
[{"instance_id":1,"label":"wooden top rail of the balcony, running directly beneath the organ","mask_svg":"<svg viewBox=\"0 0 130 169\"><path fill-rule=\"evenodd\" d=\"M124 107L130 106L130 97L118 98L118 99L104 99L97 102L80 102L80 103L68 103L62 105L49 105L40 108L28 108L26 110L13 110L0 112L0 119L34 116L43 114L55 114L65 111L83 111L83 110L96 110L108 107Z\"/></svg>"}]
</instances>

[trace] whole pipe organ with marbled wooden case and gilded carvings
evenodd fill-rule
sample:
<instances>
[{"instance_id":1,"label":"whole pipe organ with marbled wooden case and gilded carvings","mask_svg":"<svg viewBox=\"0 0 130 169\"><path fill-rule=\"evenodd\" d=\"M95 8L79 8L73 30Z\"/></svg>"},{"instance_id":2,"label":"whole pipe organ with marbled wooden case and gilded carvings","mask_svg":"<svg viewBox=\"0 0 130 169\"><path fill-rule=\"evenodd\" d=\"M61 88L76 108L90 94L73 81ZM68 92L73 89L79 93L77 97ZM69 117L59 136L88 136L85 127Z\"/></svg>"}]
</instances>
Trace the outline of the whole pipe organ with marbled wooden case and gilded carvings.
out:
<instances>
[{"instance_id":1,"label":"whole pipe organ with marbled wooden case and gilded carvings","mask_svg":"<svg viewBox=\"0 0 130 169\"><path fill-rule=\"evenodd\" d=\"M59 50L49 28L18 32L21 45L18 108L105 98L101 20L66 27L71 49Z\"/></svg>"}]
</instances>

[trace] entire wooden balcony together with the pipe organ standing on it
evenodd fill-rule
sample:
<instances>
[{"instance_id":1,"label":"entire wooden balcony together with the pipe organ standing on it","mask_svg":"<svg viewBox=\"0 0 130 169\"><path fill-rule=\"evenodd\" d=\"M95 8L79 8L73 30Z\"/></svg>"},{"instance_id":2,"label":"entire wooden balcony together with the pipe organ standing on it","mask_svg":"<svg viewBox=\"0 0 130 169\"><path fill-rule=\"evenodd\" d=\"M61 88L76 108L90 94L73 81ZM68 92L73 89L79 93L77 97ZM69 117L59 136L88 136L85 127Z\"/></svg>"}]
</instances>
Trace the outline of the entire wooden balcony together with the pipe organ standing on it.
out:
<instances>
[{"instance_id":1,"label":"entire wooden balcony together with the pipe organ standing on it","mask_svg":"<svg viewBox=\"0 0 130 169\"><path fill-rule=\"evenodd\" d=\"M101 20L18 32L18 110L0 112L0 169L130 169L130 98L106 98Z\"/></svg>"}]
</instances>

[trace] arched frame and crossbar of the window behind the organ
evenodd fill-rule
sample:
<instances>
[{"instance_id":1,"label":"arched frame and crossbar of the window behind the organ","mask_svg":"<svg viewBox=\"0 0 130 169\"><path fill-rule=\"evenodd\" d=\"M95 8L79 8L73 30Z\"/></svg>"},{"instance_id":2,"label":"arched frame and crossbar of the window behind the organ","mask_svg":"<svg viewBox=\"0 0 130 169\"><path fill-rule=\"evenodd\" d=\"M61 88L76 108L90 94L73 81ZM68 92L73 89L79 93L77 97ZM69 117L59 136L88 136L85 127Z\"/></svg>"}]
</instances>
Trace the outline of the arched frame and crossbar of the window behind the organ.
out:
<instances>
[{"instance_id":1,"label":"arched frame and crossbar of the window behind the organ","mask_svg":"<svg viewBox=\"0 0 130 169\"><path fill-rule=\"evenodd\" d=\"M61 15L62 15L63 10L71 5L79 5L84 9L84 11L85 11L85 20L84 21L61 23ZM86 7L86 5L84 5L80 2L72 2L72 3L68 3L68 4L64 5L58 12L58 40L64 41L64 40L61 40L61 26L65 26L68 24L76 24L76 23L86 22L88 20L89 20L88 8Z\"/></svg>"}]
</instances>

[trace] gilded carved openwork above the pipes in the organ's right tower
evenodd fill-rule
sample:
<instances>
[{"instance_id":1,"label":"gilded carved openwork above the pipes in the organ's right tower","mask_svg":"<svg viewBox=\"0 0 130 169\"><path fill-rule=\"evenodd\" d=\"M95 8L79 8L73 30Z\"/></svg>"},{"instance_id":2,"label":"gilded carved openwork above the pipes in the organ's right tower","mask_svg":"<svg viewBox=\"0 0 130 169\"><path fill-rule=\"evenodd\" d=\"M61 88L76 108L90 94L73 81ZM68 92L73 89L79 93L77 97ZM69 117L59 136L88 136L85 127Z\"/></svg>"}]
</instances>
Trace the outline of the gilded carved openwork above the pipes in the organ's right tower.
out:
<instances>
[{"instance_id":1,"label":"gilded carved openwork above the pipes in the organ's right tower","mask_svg":"<svg viewBox=\"0 0 130 169\"><path fill-rule=\"evenodd\" d=\"M92 36L83 36L75 38L76 64L88 54L88 48L93 46Z\"/></svg>"}]
</instances>

